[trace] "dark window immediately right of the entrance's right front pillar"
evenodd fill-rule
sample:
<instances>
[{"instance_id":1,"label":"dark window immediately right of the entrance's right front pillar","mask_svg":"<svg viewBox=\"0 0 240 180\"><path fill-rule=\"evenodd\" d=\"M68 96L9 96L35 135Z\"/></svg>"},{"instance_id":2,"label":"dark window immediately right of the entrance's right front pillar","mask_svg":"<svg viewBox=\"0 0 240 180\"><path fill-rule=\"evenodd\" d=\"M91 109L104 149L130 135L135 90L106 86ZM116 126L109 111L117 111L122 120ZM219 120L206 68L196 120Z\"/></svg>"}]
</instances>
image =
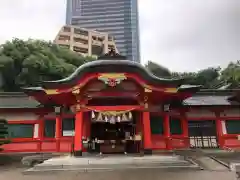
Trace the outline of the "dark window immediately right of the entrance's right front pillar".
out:
<instances>
[{"instance_id":1,"label":"dark window immediately right of the entrance's right front pillar","mask_svg":"<svg viewBox=\"0 0 240 180\"><path fill-rule=\"evenodd\" d=\"M163 134L163 117L162 116L150 116L150 125L152 134Z\"/></svg>"}]
</instances>

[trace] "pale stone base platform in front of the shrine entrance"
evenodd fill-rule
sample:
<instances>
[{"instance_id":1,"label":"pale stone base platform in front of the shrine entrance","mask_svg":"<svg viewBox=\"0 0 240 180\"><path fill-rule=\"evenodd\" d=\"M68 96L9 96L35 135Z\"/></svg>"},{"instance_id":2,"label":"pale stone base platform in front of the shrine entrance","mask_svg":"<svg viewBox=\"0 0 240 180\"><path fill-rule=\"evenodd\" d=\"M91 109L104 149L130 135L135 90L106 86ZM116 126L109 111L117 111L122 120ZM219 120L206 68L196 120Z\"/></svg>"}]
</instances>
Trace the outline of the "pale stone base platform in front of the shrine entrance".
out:
<instances>
[{"instance_id":1,"label":"pale stone base platform in front of the shrine entrance","mask_svg":"<svg viewBox=\"0 0 240 180\"><path fill-rule=\"evenodd\" d=\"M59 157L45 161L42 164L28 169L25 173L71 171L111 171L123 169L199 169L199 166L191 160L182 156L160 156L148 155L142 157L134 156L107 156L107 157Z\"/></svg>"}]
</instances>

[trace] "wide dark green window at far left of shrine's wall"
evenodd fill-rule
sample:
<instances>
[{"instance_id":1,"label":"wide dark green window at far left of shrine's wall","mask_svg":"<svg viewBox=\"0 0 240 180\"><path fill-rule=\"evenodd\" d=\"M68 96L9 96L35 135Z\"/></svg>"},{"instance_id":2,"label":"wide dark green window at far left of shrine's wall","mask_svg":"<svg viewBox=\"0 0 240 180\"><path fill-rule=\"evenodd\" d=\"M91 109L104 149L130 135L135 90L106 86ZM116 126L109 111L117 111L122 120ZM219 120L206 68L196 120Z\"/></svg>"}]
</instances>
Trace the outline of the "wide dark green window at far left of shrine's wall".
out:
<instances>
[{"instance_id":1,"label":"wide dark green window at far left of shrine's wall","mask_svg":"<svg viewBox=\"0 0 240 180\"><path fill-rule=\"evenodd\" d=\"M9 138L33 138L34 124L9 124Z\"/></svg>"}]
</instances>

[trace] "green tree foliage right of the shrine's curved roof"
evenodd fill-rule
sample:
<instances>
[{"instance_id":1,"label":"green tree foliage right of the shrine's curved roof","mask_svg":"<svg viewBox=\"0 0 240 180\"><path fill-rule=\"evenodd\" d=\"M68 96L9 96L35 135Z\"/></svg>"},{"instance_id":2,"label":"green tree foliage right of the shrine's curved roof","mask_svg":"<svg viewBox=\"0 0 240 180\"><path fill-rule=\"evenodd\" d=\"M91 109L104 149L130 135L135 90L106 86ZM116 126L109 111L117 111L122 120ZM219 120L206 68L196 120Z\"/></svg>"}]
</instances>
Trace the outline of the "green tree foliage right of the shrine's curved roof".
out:
<instances>
[{"instance_id":1,"label":"green tree foliage right of the shrine's curved roof","mask_svg":"<svg viewBox=\"0 0 240 180\"><path fill-rule=\"evenodd\" d=\"M184 78L186 84L202 85L203 88L219 88L240 85L240 61L230 62L226 68L211 67L198 72L170 72L157 63L148 62L146 67L158 77Z\"/></svg>"}]
</instances>

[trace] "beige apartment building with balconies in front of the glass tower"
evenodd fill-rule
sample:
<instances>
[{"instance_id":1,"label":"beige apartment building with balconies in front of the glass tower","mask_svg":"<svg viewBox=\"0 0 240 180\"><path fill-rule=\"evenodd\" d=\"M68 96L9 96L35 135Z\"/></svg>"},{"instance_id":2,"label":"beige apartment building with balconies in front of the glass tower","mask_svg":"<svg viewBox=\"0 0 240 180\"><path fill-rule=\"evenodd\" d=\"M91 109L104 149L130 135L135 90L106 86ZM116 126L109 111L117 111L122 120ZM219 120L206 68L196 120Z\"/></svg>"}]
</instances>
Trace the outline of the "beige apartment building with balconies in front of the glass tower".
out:
<instances>
[{"instance_id":1,"label":"beige apartment building with balconies in front of the glass tower","mask_svg":"<svg viewBox=\"0 0 240 180\"><path fill-rule=\"evenodd\" d=\"M88 56L99 56L107 53L110 49L118 52L113 37L108 33L76 26L63 26L54 43Z\"/></svg>"}]
</instances>

